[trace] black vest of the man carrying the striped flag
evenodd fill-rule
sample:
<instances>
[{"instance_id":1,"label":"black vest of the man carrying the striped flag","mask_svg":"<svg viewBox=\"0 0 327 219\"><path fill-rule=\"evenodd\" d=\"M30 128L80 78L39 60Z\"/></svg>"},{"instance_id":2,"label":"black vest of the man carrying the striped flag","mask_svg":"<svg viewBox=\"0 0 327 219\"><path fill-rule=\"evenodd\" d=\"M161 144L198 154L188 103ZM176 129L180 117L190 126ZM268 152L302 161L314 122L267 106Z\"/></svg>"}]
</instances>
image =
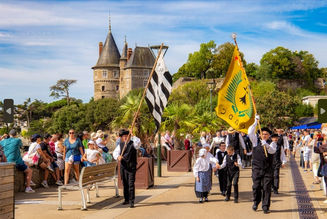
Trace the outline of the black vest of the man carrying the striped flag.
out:
<instances>
[{"instance_id":1,"label":"black vest of the man carrying the striped flag","mask_svg":"<svg viewBox=\"0 0 327 219\"><path fill-rule=\"evenodd\" d=\"M126 145L124 154L123 154L123 159L121 160L121 167L124 168L136 168L137 166L137 150L134 148L133 141L129 141ZM119 144L120 151L123 151L125 142L121 142Z\"/></svg>"}]
</instances>

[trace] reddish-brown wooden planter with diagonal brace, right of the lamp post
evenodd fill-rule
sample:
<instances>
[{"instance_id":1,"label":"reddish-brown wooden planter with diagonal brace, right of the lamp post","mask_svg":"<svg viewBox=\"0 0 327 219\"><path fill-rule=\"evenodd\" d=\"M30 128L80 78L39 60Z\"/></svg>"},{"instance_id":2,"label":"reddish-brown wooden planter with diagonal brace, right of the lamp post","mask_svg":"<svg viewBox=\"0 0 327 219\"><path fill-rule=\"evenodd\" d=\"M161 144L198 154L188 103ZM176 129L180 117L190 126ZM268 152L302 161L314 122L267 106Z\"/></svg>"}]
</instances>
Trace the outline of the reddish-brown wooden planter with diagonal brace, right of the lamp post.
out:
<instances>
[{"instance_id":1,"label":"reddish-brown wooden planter with diagonal brace, right of the lamp post","mask_svg":"<svg viewBox=\"0 0 327 219\"><path fill-rule=\"evenodd\" d=\"M169 172L188 172L192 170L191 151L168 151L167 152L167 171Z\"/></svg>"}]
</instances>

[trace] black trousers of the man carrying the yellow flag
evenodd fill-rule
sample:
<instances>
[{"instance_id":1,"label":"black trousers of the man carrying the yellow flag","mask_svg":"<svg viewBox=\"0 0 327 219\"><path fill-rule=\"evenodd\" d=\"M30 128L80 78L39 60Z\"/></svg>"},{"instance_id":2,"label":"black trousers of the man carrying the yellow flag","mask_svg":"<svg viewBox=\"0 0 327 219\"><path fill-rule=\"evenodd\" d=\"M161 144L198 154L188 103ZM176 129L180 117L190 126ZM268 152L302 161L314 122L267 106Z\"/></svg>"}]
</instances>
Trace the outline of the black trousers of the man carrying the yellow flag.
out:
<instances>
[{"instance_id":1,"label":"black trousers of the man carrying the yellow flag","mask_svg":"<svg viewBox=\"0 0 327 219\"><path fill-rule=\"evenodd\" d=\"M272 195L272 176L272 167L261 169L255 165L252 166L253 201L256 205L259 205L262 198L263 210L269 210L270 207L270 198Z\"/></svg>"}]
</instances>

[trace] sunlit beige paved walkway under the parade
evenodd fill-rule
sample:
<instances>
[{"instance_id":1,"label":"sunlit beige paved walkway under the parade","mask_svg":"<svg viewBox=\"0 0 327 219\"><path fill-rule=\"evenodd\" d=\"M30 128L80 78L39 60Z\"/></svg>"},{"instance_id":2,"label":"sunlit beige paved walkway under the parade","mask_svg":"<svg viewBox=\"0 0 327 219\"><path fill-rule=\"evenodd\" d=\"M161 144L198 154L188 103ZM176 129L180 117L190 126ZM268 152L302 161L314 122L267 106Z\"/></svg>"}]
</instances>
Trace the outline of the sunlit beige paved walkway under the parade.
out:
<instances>
[{"instance_id":1,"label":"sunlit beige paved walkway under the parade","mask_svg":"<svg viewBox=\"0 0 327 219\"><path fill-rule=\"evenodd\" d=\"M293 158L292 158L293 159ZM299 163L299 158L296 158ZM299 167L306 189L312 199L318 218L327 216L325 197L319 185L313 185L312 173L303 173ZM157 175L157 167L155 167ZM167 172L166 163L162 164L162 177L155 177L155 186L147 190L136 190L135 208L123 206L123 191L119 198L114 198L113 182L100 186L101 197L94 197L90 191L91 204L88 211L81 211L81 196L78 191L63 190L63 211L57 210L57 188L37 188L35 193L15 194L15 218L299 218L298 204L294 192L294 183L290 162L280 172L279 195L272 194L271 213L263 214L261 205L257 211L252 210L251 169L241 169L239 179L239 203L224 202L220 195L218 178L213 176L213 190L208 196L208 203L199 203L194 193L193 172Z\"/></svg>"}]
</instances>

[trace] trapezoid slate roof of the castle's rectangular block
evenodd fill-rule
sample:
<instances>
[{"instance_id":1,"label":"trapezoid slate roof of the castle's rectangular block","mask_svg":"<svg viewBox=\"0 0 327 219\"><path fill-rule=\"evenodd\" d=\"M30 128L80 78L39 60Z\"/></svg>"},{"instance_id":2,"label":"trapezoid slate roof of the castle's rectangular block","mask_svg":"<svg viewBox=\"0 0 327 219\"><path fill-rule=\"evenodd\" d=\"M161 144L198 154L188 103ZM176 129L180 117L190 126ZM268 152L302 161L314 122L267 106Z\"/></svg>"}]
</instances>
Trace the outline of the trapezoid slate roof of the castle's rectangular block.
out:
<instances>
[{"instance_id":1,"label":"trapezoid slate roof of the castle's rectangular block","mask_svg":"<svg viewBox=\"0 0 327 219\"><path fill-rule=\"evenodd\" d=\"M135 47L133 53L131 54L126 68L129 67L139 67L139 68L153 68L156 59L148 47Z\"/></svg>"}]
</instances>

